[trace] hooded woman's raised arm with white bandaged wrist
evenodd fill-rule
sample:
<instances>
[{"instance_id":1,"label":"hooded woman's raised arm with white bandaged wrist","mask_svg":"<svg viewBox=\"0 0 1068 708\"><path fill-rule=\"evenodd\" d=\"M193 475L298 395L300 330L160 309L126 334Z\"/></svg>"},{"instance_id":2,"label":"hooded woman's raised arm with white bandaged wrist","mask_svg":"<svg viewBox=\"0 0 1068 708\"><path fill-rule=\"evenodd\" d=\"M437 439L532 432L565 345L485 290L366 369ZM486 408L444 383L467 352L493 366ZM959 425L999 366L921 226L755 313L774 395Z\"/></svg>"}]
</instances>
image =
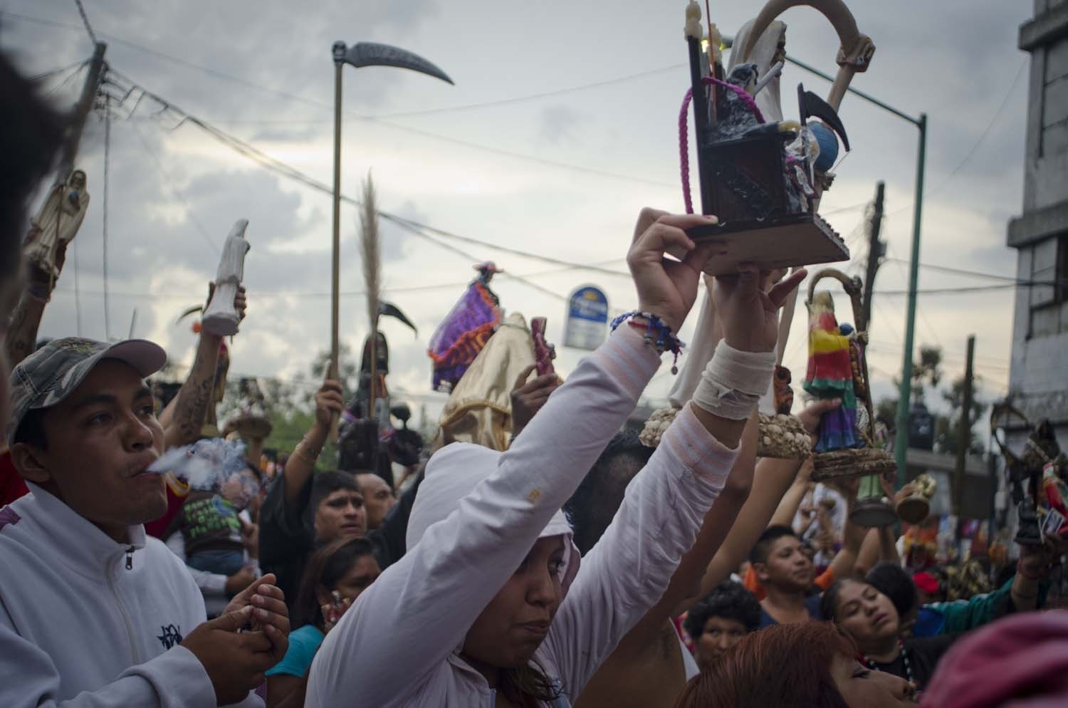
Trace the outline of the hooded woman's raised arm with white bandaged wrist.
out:
<instances>
[{"instance_id":1,"label":"hooded woman's raised arm with white bandaged wrist","mask_svg":"<svg viewBox=\"0 0 1068 708\"><path fill-rule=\"evenodd\" d=\"M600 541L583 558L582 572L546 641L545 649L571 697L621 639L663 600L709 507L726 518L722 525L709 526L700 549L705 560L719 544L721 537L716 536L725 533L737 514L737 500L720 512L712 503L738 457L747 420L771 382L779 306L803 277L801 271L767 293L755 271L717 280L713 293L724 340L693 399L679 411L648 465L628 486ZM751 473L741 474L744 478ZM685 594L677 589L671 599Z\"/></svg>"}]
</instances>

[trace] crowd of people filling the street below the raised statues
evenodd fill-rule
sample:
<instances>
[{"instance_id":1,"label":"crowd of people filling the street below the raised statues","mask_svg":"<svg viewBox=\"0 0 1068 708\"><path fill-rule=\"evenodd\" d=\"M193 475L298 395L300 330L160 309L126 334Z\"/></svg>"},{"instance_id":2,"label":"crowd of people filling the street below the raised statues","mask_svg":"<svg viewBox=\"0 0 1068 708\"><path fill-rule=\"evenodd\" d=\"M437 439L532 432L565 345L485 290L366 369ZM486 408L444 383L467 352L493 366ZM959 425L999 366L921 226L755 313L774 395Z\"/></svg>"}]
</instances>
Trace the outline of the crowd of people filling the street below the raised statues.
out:
<instances>
[{"instance_id":1,"label":"crowd of people filling the street below the raised statues","mask_svg":"<svg viewBox=\"0 0 1068 708\"><path fill-rule=\"evenodd\" d=\"M284 461L258 438L214 488L156 473L206 435L222 337L200 332L166 405L151 342L37 345L56 281L20 263L22 235L64 119L3 58L0 95L0 706L1068 705L1063 547L947 598L893 526L854 522L855 478L757 457L803 269L710 280L694 336L719 343L691 399L656 447L626 427L718 256L687 230L714 217L642 210L634 311L566 381L523 371L503 450L339 469L324 447L351 406L327 378ZM798 419L816 436L839 405Z\"/></svg>"}]
</instances>

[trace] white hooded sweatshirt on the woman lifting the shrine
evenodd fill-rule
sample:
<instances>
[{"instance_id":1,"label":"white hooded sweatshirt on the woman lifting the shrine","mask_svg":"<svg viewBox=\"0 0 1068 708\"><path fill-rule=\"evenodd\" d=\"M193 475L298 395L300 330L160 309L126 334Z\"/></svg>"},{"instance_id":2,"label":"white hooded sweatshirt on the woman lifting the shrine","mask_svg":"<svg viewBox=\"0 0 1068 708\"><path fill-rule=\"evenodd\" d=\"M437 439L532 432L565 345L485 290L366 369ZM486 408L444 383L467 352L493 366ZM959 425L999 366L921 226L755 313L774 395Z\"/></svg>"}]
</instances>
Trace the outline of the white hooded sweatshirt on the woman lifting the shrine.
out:
<instances>
[{"instance_id":1,"label":"white hooded sweatshirt on the woman lifting the shrine","mask_svg":"<svg viewBox=\"0 0 1068 708\"><path fill-rule=\"evenodd\" d=\"M455 443L426 469L408 552L327 634L305 708L491 708L465 636L535 540L569 535L560 508L633 410L660 357L621 327L553 392L505 453ZM566 593L535 652L566 708L663 595L737 451L679 413L600 542L564 568Z\"/></svg>"}]
</instances>

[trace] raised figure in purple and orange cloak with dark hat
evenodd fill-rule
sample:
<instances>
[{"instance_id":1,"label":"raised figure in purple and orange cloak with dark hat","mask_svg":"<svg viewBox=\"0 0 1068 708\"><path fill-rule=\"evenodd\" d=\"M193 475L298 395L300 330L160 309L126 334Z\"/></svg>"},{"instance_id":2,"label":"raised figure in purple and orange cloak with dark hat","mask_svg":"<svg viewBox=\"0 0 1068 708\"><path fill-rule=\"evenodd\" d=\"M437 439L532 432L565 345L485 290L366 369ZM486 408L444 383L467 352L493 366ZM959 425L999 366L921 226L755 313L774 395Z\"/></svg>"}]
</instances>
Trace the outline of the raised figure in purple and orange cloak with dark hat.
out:
<instances>
[{"instance_id":1,"label":"raised figure in purple and orange cloak with dark hat","mask_svg":"<svg viewBox=\"0 0 1068 708\"><path fill-rule=\"evenodd\" d=\"M501 306L489 289L493 276L504 272L491 262L474 267L471 281L430 337L427 353L434 361L434 390L450 392L501 324Z\"/></svg>"}]
</instances>

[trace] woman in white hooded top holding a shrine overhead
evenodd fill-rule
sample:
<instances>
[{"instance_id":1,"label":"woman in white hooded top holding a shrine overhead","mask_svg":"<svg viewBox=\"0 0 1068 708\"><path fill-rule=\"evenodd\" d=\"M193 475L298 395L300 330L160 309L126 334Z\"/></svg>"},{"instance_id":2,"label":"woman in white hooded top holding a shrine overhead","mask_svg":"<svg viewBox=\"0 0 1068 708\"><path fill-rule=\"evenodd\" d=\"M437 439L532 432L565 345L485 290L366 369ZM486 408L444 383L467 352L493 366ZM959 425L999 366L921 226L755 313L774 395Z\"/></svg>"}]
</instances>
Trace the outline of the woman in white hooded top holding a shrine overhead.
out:
<instances>
[{"instance_id":1,"label":"woman in white hooded top holding a shrine overhead","mask_svg":"<svg viewBox=\"0 0 1068 708\"><path fill-rule=\"evenodd\" d=\"M684 229L707 219L645 209L635 227L639 311L672 331L712 254ZM666 261L669 249L687 256ZM435 455L408 553L327 636L307 706L569 706L693 544L770 382L775 311L803 274L770 293L755 271L718 282L725 344L581 571L560 508L659 366L644 321L580 363L506 453L453 444Z\"/></svg>"}]
</instances>

